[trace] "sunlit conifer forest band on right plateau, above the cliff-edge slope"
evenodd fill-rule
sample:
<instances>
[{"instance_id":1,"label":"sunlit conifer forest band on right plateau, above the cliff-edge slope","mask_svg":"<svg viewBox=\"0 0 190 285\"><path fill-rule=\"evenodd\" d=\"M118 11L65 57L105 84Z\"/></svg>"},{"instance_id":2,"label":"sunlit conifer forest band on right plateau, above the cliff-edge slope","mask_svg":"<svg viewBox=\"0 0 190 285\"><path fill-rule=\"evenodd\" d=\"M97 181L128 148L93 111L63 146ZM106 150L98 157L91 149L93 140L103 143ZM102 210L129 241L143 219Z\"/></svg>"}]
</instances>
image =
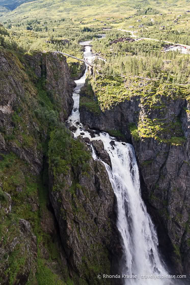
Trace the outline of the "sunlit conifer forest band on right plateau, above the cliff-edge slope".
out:
<instances>
[{"instance_id":1,"label":"sunlit conifer forest band on right plateau, above the cliff-edge slope","mask_svg":"<svg viewBox=\"0 0 190 285\"><path fill-rule=\"evenodd\" d=\"M122 38L126 38L126 33L112 31L107 33L105 39L93 41L93 49L106 58L106 62L95 61L95 69L98 68L102 76L128 75L174 84L190 84L189 55L182 56L178 50L164 52L165 43L161 41L111 44L114 39Z\"/></svg>"}]
</instances>

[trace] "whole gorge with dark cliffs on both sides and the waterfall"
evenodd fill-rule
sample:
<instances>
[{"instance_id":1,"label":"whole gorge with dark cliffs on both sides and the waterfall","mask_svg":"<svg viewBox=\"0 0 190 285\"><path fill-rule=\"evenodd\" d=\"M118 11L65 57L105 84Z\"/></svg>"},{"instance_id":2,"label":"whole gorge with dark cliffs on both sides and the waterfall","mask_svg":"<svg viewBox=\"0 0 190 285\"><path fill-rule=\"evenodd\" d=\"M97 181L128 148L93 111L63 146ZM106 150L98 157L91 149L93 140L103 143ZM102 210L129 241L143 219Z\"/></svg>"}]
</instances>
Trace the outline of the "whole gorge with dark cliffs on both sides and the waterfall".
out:
<instances>
[{"instance_id":1,"label":"whole gorge with dark cliffs on both sides and the waterfall","mask_svg":"<svg viewBox=\"0 0 190 285\"><path fill-rule=\"evenodd\" d=\"M87 70L74 82L62 54L1 50L0 62L0 282L168 285L97 275L189 274L187 100L160 96L161 113L137 96L102 111ZM174 122L184 144L137 137L146 116Z\"/></svg>"}]
</instances>

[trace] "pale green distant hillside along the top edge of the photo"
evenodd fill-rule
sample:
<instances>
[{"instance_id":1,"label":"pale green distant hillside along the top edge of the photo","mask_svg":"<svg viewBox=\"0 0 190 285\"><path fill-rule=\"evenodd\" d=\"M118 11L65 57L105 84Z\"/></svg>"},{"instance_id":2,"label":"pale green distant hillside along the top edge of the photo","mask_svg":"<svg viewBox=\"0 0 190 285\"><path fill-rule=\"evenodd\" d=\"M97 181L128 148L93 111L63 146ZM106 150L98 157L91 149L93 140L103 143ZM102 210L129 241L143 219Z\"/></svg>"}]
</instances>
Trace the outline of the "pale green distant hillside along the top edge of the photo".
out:
<instances>
[{"instance_id":1,"label":"pale green distant hillside along the top edge of the photo","mask_svg":"<svg viewBox=\"0 0 190 285\"><path fill-rule=\"evenodd\" d=\"M190 9L190 0L0 0L0 6L11 10L4 17L12 20L78 18L93 19L102 17L124 17L138 10L153 8L159 13ZM149 14L150 14L149 10Z\"/></svg>"}]
</instances>

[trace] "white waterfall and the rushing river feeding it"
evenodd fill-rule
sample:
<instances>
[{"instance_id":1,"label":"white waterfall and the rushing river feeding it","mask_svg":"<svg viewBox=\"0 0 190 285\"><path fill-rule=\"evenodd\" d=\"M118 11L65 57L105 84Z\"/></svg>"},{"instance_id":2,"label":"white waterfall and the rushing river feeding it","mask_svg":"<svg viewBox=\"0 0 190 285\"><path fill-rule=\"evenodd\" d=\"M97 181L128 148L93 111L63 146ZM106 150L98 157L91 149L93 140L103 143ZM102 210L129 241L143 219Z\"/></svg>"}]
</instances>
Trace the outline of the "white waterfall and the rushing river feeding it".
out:
<instances>
[{"instance_id":1,"label":"white waterfall and the rushing river feeding it","mask_svg":"<svg viewBox=\"0 0 190 285\"><path fill-rule=\"evenodd\" d=\"M92 62L94 59L90 46L86 46L84 58L88 59L89 62ZM167 275L168 272L159 257L157 234L141 197L139 171L134 150L131 145L116 141L114 137L110 137L105 132L96 133L95 137L91 138L90 133L84 130L84 126L80 123L79 118L79 91L84 85L85 79L86 73L82 78L75 81L77 86L73 92L74 107L68 123L77 127L74 137L82 135L90 138L90 140L101 139L104 149L110 155L112 169L106 163L103 163L117 197L117 226L122 239L124 255L122 273L137 275L137 278L124 279L124 284L173 284L171 279L152 279L141 276ZM111 140L115 141L114 146L111 146ZM94 151L93 157L98 159Z\"/></svg>"}]
</instances>

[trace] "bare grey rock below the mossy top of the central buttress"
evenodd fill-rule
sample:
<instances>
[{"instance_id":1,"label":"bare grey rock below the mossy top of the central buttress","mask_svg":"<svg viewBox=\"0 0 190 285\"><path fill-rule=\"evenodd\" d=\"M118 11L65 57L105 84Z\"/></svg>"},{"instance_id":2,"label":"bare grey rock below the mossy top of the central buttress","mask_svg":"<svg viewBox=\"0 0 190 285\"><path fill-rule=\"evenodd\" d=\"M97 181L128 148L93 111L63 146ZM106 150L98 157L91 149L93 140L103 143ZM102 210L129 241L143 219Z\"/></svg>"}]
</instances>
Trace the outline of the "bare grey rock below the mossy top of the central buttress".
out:
<instances>
[{"instance_id":1,"label":"bare grey rock below the mossy top of the central buttress","mask_svg":"<svg viewBox=\"0 0 190 285\"><path fill-rule=\"evenodd\" d=\"M78 139L83 142L81 137ZM102 150L102 141L96 145L100 153L106 156ZM122 251L121 247L120 251L118 250L114 191L105 167L101 161L94 161L91 157L87 169L87 173L84 173L83 166L79 163L77 170L69 167L67 174L59 174L56 179L52 169L50 200L70 266L93 284L95 274L90 269L92 264L101 264L104 272L107 266L111 266L105 251L109 252L113 263L116 264ZM55 190L56 185L62 186ZM97 248L101 248L98 254Z\"/></svg>"}]
</instances>

